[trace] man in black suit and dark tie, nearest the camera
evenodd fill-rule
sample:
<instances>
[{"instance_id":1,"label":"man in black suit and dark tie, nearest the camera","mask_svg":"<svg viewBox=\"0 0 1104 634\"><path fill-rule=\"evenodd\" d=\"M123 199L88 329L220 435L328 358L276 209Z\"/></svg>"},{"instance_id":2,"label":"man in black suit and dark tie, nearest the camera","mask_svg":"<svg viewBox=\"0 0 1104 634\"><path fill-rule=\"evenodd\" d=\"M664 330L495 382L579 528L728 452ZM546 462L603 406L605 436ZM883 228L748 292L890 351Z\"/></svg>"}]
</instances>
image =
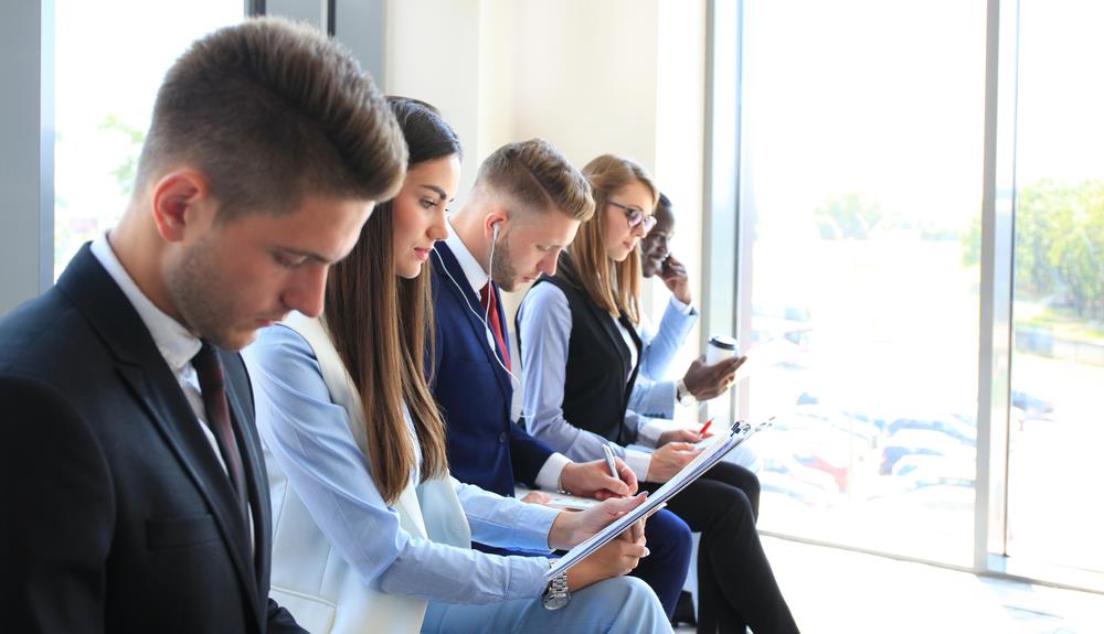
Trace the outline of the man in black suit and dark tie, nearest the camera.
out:
<instances>
[{"instance_id":1,"label":"man in black suit and dark tie, nearest the camera","mask_svg":"<svg viewBox=\"0 0 1104 634\"><path fill-rule=\"evenodd\" d=\"M251 20L166 76L135 194L0 321L11 632L301 632L268 599L267 479L237 351L322 309L405 144L351 56Z\"/></svg>"}]
</instances>

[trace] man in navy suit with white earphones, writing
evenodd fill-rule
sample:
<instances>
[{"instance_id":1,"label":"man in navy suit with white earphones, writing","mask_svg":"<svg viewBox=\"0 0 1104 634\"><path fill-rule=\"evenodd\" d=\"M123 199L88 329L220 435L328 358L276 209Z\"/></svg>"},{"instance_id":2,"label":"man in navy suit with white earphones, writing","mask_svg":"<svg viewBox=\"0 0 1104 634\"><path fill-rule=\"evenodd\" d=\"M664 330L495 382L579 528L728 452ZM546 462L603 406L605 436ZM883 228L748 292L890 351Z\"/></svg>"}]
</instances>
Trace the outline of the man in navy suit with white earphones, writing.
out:
<instances>
[{"instance_id":1,"label":"man in navy suit with white earphones, writing","mask_svg":"<svg viewBox=\"0 0 1104 634\"><path fill-rule=\"evenodd\" d=\"M499 289L554 275L560 252L593 213L583 175L533 139L488 157L469 200L448 219L448 237L431 258L432 387L445 417L449 468L461 482L500 495L513 495L516 482L603 499L636 492L636 476L619 459L616 476L605 461L572 462L529 436L511 407L520 385ZM690 530L662 511L648 520L646 537L651 555L634 576L656 590L670 615L689 566Z\"/></svg>"}]
</instances>

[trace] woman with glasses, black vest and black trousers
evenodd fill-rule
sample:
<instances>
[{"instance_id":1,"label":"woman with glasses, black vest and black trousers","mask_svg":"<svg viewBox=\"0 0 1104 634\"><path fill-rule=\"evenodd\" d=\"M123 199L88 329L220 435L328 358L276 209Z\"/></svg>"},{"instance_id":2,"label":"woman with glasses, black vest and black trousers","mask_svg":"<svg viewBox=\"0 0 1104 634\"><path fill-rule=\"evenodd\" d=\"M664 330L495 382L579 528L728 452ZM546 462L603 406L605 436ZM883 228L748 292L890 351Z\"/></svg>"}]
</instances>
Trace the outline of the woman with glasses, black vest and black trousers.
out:
<instances>
[{"instance_id":1,"label":"woman with glasses, black vest and black trousers","mask_svg":"<svg viewBox=\"0 0 1104 634\"><path fill-rule=\"evenodd\" d=\"M526 425L537 439L572 460L593 460L611 447L636 472L640 487L659 483L698 455L676 430L655 433L628 409L644 354L639 241L655 221L659 196L633 161L604 154L585 168L595 202L560 258L518 313ZM626 449L640 443L650 453ZM758 482L747 470L719 463L668 508L701 533L698 632L797 632L755 528Z\"/></svg>"}]
</instances>

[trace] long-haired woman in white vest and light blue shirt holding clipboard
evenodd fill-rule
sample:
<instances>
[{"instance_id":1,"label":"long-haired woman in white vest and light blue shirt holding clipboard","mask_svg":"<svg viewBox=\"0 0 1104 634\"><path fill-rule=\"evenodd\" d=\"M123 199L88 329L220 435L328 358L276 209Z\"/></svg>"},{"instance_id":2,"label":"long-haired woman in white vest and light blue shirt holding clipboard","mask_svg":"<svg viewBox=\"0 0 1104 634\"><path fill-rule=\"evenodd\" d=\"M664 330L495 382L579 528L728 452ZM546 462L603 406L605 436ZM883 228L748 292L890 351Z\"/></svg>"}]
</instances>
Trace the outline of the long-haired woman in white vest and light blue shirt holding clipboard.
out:
<instances>
[{"instance_id":1,"label":"long-haired woman in white vest and light blue shirt holding clipboard","mask_svg":"<svg viewBox=\"0 0 1104 634\"><path fill-rule=\"evenodd\" d=\"M569 570L574 597L545 581L546 558L471 550L473 539L571 547L640 499L556 512L448 475L425 379L424 265L446 236L460 149L432 107L390 105L410 146L403 189L333 267L326 312L295 313L246 352L272 482L274 595L312 632L669 631L650 589L619 577L647 552L641 526ZM295 267L312 256L275 257Z\"/></svg>"}]
</instances>

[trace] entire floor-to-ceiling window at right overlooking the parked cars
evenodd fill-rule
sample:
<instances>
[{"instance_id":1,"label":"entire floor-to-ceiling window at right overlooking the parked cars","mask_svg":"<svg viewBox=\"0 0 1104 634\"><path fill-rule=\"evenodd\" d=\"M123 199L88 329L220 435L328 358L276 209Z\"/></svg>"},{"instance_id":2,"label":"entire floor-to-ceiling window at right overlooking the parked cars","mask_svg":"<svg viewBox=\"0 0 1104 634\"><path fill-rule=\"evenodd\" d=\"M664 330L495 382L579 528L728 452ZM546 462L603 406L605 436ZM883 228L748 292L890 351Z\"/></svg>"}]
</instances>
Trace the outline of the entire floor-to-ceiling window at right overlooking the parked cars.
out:
<instances>
[{"instance_id":1,"label":"entire floor-to-ceiling window at right overlooking the parked cars","mask_svg":"<svg viewBox=\"0 0 1104 634\"><path fill-rule=\"evenodd\" d=\"M781 359L732 404L761 527L1104 588L1104 8L739 6L709 292Z\"/></svg>"}]
</instances>

